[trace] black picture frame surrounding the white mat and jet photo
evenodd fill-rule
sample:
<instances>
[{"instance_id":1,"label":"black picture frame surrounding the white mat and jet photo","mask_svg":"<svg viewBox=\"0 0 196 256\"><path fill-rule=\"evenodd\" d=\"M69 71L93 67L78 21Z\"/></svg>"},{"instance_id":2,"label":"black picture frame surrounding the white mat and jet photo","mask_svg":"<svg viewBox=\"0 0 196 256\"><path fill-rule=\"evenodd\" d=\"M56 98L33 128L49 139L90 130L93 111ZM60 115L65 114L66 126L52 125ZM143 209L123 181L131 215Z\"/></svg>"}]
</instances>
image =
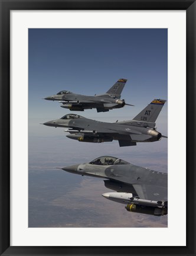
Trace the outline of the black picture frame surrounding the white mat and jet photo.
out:
<instances>
[{"instance_id":1,"label":"black picture frame surrounding the white mat and jet photo","mask_svg":"<svg viewBox=\"0 0 196 256\"><path fill-rule=\"evenodd\" d=\"M196 255L195 249L195 78L196 78L196 3L186 0L0 0L1 4L1 255ZM10 11L60 9L132 9L132 10L186 10L187 13L187 246L183 247L11 247L10 246ZM184 104L184 103L181 103ZM185 120L178 120L178 124ZM179 138L180 143L180 138ZM178 177L177 170L176 172ZM178 180L178 179L177 179ZM179 193L180 194L180 193ZM184 207L180 196L178 206ZM179 231L180 232L180 223ZM116 234L118 235L118 234ZM138 238L139 239L139 238Z\"/></svg>"}]
</instances>

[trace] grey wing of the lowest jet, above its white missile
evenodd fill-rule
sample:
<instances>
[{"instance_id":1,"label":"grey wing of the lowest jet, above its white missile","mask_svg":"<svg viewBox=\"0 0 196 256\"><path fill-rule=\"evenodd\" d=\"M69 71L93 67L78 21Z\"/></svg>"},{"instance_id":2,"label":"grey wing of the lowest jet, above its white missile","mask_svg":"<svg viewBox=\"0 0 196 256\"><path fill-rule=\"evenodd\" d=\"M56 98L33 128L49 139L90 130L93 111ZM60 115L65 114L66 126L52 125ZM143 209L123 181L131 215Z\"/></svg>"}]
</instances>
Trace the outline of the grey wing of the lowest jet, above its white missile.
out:
<instances>
[{"instance_id":1,"label":"grey wing of the lowest jet, above its white missile","mask_svg":"<svg viewBox=\"0 0 196 256\"><path fill-rule=\"evenodd\" d=\"M133 188L140 199L155 201L168 199L168 191L165 187L149 184L133 184Z\"/></svg>"}]
</instances>

